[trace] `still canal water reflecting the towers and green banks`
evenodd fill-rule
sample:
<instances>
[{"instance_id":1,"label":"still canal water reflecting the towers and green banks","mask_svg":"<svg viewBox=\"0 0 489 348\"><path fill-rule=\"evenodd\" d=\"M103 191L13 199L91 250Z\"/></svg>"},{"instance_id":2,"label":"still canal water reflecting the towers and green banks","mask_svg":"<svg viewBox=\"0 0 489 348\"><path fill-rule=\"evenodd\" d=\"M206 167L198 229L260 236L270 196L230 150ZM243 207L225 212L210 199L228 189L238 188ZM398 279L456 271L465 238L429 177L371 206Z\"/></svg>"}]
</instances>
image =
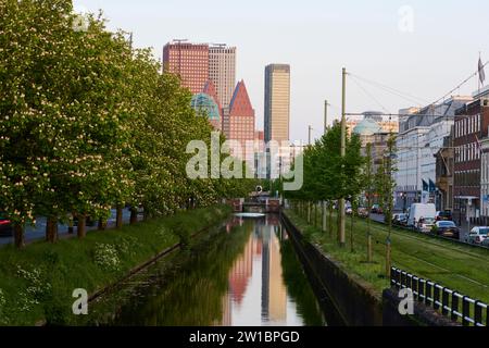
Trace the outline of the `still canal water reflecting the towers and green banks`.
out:
<instances>
[{"instance_id":1,"label":"still canal water reflecting the towers and green banks","mask_svg":"<svg viewBox=\"0 0 489 348\"><path fill-rule=\"evenodd\" d=\"M278 215L234 216L90 306L97 325L326 325Z\"/></svg>"}]
</instances>

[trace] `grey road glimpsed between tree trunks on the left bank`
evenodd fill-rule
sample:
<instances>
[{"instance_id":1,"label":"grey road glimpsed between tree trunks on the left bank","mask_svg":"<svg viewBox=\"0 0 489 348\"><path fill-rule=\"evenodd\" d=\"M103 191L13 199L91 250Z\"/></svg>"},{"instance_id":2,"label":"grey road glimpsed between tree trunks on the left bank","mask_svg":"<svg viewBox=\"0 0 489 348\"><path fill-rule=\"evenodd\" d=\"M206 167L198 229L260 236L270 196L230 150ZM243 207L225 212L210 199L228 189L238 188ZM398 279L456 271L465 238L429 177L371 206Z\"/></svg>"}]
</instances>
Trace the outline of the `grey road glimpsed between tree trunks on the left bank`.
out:
<instances>
[{"instance_id":1,"label":"grey road glimpsed between tree trunks on the left bank","mask_svg":"<svg viewBox=\"0 0 489 348\"><path fill-rule=\"evenodd\" d=\"M130 211L129 209L123 210L123 223L127 224L129 223L130 219ZM111 210L111 216L108 220L108 228L115 227L115 209ZM97 224L95 226L87 226L87 231L93 231L97 229ZM70 236L68 234L68 226L67 224L58 224L58 233L60 238L67 238ZM76 227L75 227L75 234L76 234ZM46 237L46 217L38 217L36 219L36 226L27 226L25 228L25 241L33 243L36 240L43 239ZM0 246L13 244L13 237L0 237Z\"/></svg>"}]
</instances>

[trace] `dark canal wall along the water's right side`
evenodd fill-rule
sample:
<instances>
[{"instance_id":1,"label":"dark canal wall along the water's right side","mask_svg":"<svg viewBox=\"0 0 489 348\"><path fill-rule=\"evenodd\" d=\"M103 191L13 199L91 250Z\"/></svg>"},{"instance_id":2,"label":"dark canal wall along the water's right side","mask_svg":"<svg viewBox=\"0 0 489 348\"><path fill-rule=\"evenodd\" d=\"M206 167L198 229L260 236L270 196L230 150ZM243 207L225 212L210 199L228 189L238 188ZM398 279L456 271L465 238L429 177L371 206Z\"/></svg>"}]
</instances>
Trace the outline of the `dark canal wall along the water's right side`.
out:
<instances>
[{"instance_id":1,"label":"dark canal wall along the water's right side","mask_svg":"<svg viewBox=\"0 0 489 348\"><path fill-rule=\"evenodd\" d=\"M313 277L316 294L327 295L342 322L349 326L418 326L453 325L424 304L414 303L414 315L401 315L396 290L375 291L369 284L346 271L342 265L303 237L285 213L281 221L301 262ZM335 323L333 323L335 325Z\"/></svg>"}]
</instances>

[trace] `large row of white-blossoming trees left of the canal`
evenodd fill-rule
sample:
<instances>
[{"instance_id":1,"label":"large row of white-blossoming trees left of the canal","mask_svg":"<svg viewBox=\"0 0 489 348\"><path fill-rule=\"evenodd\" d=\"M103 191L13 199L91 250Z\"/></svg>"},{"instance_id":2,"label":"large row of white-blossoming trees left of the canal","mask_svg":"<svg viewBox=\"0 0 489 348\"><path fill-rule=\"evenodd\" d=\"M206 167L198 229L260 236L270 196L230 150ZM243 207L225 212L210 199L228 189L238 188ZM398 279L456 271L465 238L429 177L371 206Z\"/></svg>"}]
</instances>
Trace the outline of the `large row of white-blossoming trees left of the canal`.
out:
<instances>
[{"instance_id":1,"label":"large row of white-blossoming trees left of the canal","mask_svg":"<svg viewBox=\"0 0 489 348\"><path fill-rule=\"evenodd\" d=\"M187 144L212 130L190 92L100 15L84 21L72 1L0 0L0 211L16 246L36 216L76 216L84 237L86 216L113 207L160 215L248 191L187 177Z\"/></svg>"}]
</instances>

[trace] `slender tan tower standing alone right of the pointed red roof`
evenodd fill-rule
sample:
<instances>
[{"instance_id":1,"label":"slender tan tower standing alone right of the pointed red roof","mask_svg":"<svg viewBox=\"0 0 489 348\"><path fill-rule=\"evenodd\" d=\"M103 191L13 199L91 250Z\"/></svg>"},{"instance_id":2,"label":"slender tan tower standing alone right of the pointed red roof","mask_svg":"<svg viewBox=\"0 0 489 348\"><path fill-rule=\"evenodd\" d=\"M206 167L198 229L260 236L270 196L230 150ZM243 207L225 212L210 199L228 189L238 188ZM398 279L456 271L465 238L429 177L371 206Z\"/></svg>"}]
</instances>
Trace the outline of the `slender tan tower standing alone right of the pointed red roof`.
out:
<instances>
[{"instance_id":1,"label":"slender tan tower standing alone right of the pointed red roof","mask_svg":"<svg viewBox=\"0 0 489 348\"><path fill-rule=\"evenodd\" d=\"M290 125L290 65L265 67L265 142L288 141Z\"/></svg>"}]
</instances>

